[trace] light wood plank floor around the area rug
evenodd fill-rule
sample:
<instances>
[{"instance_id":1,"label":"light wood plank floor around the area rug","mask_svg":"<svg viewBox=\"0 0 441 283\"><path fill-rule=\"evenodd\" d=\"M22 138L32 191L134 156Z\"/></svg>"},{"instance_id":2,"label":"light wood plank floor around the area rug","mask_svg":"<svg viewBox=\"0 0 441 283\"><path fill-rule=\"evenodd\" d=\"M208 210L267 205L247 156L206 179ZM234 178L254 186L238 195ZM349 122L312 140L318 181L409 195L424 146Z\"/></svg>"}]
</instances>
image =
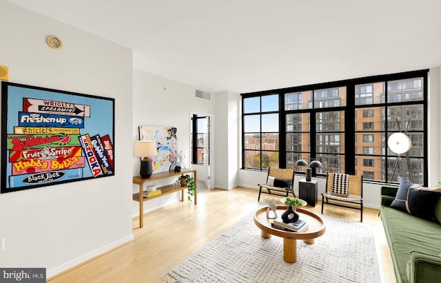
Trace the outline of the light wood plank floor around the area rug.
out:
<instances>
[{"instance_id":1,"label":"light wood plank floor around the area rug","mask_svg":"<svg viewBox=\"0 0 441 283\"><path fill-rule=\"evenodd\" d=\"M173 266L203 247L219 233L250 211L263 207L269 198L257 201L258 191L238 187L230 191L213 189L198 193L198 205L187 200L144 215L144 227L134 218L134 240L93 260L48 280L57 282L162 282L161 277ZM320 213L316 207L306 207ZM360 219L360 211L325 207L325 214L351 220ZM372 224L382 282L396 282L389 247L378 210L364 209L363 222ZM317 240L320 240L318 238Z\"/></svg>"}]
</instances>

